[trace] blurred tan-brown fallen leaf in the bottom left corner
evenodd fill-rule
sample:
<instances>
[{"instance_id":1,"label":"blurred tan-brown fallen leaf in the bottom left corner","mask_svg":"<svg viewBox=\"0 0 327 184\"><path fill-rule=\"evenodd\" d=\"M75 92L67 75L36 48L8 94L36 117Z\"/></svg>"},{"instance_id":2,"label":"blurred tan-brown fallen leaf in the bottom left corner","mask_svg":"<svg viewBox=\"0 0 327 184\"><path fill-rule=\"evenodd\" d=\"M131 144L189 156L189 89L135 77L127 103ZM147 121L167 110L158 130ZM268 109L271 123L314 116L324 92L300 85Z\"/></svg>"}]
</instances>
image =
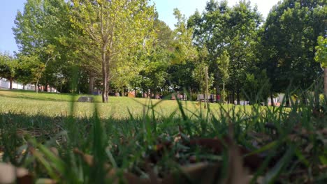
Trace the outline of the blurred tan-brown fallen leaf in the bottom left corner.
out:
<instances>
[{"instance_id":1,"label":"blurred tan-brown fallen leaf in the bottom left corner","mask_svg":"<svg viewBox=\"0 0 327 184\"><path fill-rule=\"evenodd\" d=\"M33 177L27 169L0 163L0 183L33 183Z\"/></svg>"}]
</instances>

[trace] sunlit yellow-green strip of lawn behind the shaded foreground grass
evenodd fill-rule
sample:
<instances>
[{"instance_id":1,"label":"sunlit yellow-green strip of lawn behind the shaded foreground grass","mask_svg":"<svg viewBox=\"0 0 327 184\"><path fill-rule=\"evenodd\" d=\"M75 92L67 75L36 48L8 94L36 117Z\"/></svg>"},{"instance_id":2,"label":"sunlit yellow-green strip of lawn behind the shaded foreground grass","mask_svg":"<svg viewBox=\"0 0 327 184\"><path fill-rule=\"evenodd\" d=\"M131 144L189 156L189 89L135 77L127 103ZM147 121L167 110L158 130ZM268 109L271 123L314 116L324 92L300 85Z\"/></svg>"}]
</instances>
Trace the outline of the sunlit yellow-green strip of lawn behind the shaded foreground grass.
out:
<instances>
[{"instance_id":1,"label":"sunlit yellow-green strip of lawn behind the shaded foreground grass","mask_svg":"<svg viewBox=\"0 0 327 184\"><path fill-rule=\"evenodd\" d=\"M34 91L0 91L0 113L43 115L43 116L68 116L73 109L75 117L89 117L98 109L101 118L130 118L131 115L140 117L154 112L157 117L166 117L178 111L176 100L154 100L147 98L127 98L110 96L108 103L101 102L101 95L93 96L95 103L77 102L81 95L61 93L35 93ZM189 116L207 114L204 103L182 101L182 107ZM73 107L73 108L72 108ZM201 108L202 107L202 108ZM249 112L250 106L218 105L211 103L211 114L220 114L221 107L226 111L233 108L236 111Z\"/></svg>"}]
</instances>

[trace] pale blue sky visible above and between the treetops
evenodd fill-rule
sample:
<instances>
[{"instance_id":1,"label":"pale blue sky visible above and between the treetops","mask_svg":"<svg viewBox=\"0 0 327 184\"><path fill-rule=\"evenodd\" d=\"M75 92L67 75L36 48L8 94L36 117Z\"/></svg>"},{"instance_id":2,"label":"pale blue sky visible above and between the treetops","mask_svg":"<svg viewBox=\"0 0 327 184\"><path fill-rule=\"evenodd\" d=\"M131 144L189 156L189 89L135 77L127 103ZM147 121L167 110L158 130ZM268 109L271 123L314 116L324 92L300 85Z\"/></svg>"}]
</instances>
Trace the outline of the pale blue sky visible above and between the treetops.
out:
<instances>
[{"instance_id":1,"label":"pale blue sky visible above and between the treetops","mask_svg":"<svg viewBox=\"0 0 327 184\"><path fill-rule=\"evenodd\" d=\"M17 45L11 28L14 26L17 10L23 10L24 2L27 0L1 0L0 2L0 52L13 53L17 51ZM175 17L173 9L178 8L182 14L189 17L196 9L200 12L205 8L208 0L152 0L156 3L159 12L159 19L166 22L173 29ZM251 0L257 4L259 11L266 17L279 0ZM228 0L229 6L235 5L238 0Z\"/></svg>"}]
</instances>

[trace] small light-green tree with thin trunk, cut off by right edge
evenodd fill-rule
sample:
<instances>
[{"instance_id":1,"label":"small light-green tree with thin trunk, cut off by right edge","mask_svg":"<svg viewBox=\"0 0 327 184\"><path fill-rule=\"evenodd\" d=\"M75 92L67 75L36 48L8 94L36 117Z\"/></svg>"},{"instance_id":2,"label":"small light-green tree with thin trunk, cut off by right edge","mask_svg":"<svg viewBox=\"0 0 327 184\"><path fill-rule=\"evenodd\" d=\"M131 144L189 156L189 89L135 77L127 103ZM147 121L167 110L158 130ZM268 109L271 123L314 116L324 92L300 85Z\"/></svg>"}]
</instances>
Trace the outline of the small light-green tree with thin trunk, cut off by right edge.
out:
<instances>
[{"instance_id":1,"label":"small light-green tree with thin trunk, cut off by right edge","mask_svg":"<svg viewBox=\"0 0 327 184\"><path fill-rule=\"evenodd\" d=\"M314 60L321 63L321 67L324 68L324 94L327 96L327 38L318 37L316 50Z\"/></svg>"}]
</instances>

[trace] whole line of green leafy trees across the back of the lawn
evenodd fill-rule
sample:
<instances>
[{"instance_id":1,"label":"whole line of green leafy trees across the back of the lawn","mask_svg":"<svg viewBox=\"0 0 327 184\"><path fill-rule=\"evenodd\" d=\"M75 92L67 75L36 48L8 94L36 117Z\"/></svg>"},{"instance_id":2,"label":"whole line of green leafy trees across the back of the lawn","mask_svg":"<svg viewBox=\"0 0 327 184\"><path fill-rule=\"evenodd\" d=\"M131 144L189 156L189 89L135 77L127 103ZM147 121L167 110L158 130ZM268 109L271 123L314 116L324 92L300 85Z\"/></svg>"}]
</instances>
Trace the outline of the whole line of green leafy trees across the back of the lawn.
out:
<instances>
[{"instance_id":1,"label":"whole line of green leafy trees across the back of the lawn","mask_svg":"<svg viewBox=\"0 0 327 184\"><path fill-rule=\"evenodd\" d=\"M97 88L107 102L110 91L204 93L208 67L210 91L239 104L305 90L327 66L324 0L280 1L266 20L249 1L174 15L171 30L148 0L27 0L13 28L20 52L1 54L0 77L60 92Z\"/></svg>"}]
</instances>

